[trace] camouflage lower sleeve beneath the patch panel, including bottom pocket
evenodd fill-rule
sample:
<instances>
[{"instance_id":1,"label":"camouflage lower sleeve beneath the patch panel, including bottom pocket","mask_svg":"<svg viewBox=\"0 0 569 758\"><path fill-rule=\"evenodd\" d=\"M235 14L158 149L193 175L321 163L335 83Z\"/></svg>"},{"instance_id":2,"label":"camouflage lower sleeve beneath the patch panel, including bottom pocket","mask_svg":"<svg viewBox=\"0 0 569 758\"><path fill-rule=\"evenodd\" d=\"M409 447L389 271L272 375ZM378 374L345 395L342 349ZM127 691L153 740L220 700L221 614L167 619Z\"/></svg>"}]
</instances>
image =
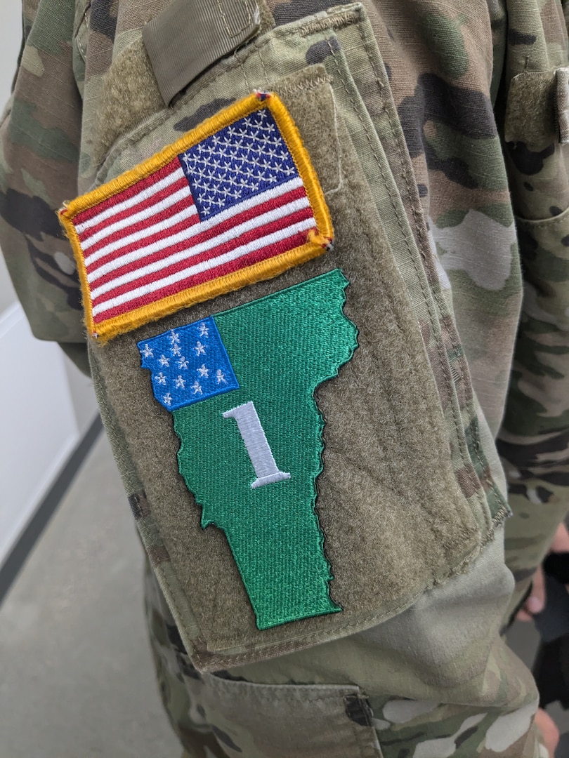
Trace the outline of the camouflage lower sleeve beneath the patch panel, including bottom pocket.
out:
<instances>
[{"instance_id":1,"label":"camouflage lower sleeve beneath the patch panel, including bottom pocket","mask_svg":"<svg viewBox=\"0 0 569 758\"><path fill-rule=\"evenodd\" d=\"M470 571L382 625L202 674L146 567L162 701L183 758L546 758L533 678L499 636L501 534Z\"/></svg>"}]
</instances>

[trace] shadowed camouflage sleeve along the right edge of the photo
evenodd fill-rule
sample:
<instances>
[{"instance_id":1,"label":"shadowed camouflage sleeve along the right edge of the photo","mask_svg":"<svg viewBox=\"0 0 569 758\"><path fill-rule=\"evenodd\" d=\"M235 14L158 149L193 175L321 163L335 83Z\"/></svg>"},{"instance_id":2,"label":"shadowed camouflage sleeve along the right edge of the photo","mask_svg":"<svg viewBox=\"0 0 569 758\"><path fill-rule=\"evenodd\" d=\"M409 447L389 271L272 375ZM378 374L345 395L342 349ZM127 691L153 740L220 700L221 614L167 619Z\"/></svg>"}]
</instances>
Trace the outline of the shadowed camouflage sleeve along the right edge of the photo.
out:
<instances>
[{"instance_id":1,"label":"shadowed camouflage sleeve along the right edge of the photo","mask_svg":"<svg viewBox=\"0 0 569 758\"><path fill-rule=\"evenodd\" d=\"M562 115L567 31L561 4L558 15L538 8L526 13L522 5L512 4L508 26L547 43L531 58L523 45L509 44L502 83L505 159L523 271L520 327L498 434L514 514L505 525L506 559L516 578L510 612L527 594L569 509L569 145ZM518 88L531 83L530 99L536 97L539 81L551 95L549 121L543 109L519 96ZM511 106L518 101L522 107L514 117Z\"/></svg>"}]
</instances>

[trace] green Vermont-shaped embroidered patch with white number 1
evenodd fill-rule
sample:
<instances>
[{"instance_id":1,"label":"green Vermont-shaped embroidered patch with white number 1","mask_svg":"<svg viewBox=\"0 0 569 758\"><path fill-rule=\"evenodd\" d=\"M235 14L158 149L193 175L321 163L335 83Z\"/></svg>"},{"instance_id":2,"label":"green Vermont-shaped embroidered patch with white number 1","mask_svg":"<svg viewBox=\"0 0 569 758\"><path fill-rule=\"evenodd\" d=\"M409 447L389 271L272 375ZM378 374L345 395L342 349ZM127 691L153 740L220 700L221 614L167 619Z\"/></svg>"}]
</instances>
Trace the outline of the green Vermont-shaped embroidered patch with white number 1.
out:
<instances>
[{"instance_id":1,"label":"green Vermont-shaped embroidered patch with white number 1","mask_svg":"<svg viewBox=\"0 0 569 758\"><path fill-rule=\"evenodd\" d=\"M357 347L346 286L335 269L138 343L202 528L227 537L259 629L341 610L315 509L314 392Z\"/></svg>"}]
</instances>

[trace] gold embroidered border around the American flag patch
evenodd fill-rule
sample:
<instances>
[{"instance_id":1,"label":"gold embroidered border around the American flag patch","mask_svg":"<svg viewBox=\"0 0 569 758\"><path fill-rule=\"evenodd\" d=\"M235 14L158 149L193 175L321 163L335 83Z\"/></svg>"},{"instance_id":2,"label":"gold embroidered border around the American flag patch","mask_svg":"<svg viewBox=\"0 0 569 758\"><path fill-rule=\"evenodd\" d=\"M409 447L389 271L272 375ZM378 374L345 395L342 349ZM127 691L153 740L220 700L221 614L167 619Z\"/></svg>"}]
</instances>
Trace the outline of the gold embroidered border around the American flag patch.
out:
<instances>
[{"instance_id":1,"label":"gold embroidered border around the American flag patch","mask_svg":"<svg viewBox=\"0 0 569 758\"><path fill-rule=\"evenodd\" d=\"M75 216L81 211L86 210L86 208L98 205L99 202L114 197L124 189L129 189L140 180L145 179L155 171L159 171L160 168L173 161L181 152L202 142L203 139L212 136L212 134L227 127L229 124L233 124L234 121L246 117L255 111L259 111L261 108L269 108L291 152L313 210L317 224L317 233L309 233L307 243L281 253L281 255L276 255L266 261L241 268L239 271L234 271L231 274L225 274L225 276L218 277L208 283L199 284L187 290L181 290L181 292L160 299L158 302L143 305L127 314L108 318L105 321L99 322L99 324L95 324L86 265L79 236L73 221ZM86 195L80 196L71 202L65 202L64 207L58 212L58 218L64 228L64 232L68 236L77 261L83 293L86 327L90 336L98 340L99 343L105 343L112 339L112 337L118 336L118 334L124 334L127 331L136 329L143 324L149 323L149 321L164 318L182 308L195 305L197 302L218 297L261 280L272 279L288 268L300 265L309 261L310 258L322 255L326 249L329 249L334 235L329 209L324 199L322 187L316 176L316 171L314 171L310 161L310 156L303 145L296 124L294 124L285 105L275 93L271 93L268 99L259 99L258 94L253 93L221 111L221 113L208 118L199 127L191 130L181 137L181 139L166 147L162 152L156 153L152 158L149 158L137 167L127 171L125 174L121 174L121 176L103 184L97 189L93 189Z\"/></svg>"}]
</instances>

